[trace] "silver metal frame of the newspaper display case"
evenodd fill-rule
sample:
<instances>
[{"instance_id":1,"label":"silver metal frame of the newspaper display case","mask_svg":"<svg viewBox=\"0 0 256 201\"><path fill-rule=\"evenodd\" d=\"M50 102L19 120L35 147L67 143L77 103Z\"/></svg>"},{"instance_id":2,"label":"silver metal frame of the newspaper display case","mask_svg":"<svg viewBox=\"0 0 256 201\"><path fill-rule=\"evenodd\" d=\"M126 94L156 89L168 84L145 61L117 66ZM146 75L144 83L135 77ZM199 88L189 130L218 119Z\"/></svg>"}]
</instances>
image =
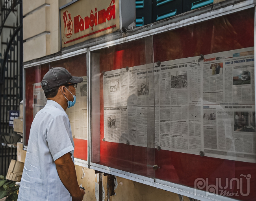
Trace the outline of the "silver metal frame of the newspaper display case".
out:
<instances>
[{"instance_id":1,"label":"silver metal frame of the newspaper display case","mask_svg":"<svg viewBox=\"0 0 256 201\"><path fill-rule=\"evenodd\" d=\"M64 5L66 7L68 4ZM170 31L174 29L178 29L180 27L189 26L192 24L196 24L198 22L203 22L206 20L210 20L219 16L228 15L231 13L235 13L238 11L242 11L245 9L249 9L255 7L256 0L226 0L224 2L220 2L217 4L212 4L194 11L189 11L187 13L182 13L181 15L174 16L172 18L162 20L160 22L156 22L150 25L137 27L136 29L132 29L127 33L115 32L111 33L107 36L102 36L99 38L94 38L80 44L76 44L74 46L70 46L69 48L61 49L62 55L58 56L48 56L45 58L37 59L36 61L32 61L30 63L25 62L23 68L23 86L25 86L25 68L29 68L32 66L45 64L48 62L61 60L63 58L73 57L82 53L87 53L87 132L88 132L88 147L87 147L87 161L81 159L75 159L75 164L80 166L87 166L88 168L98 170L100 172L106 172L108 174L112 174L115 176L119 176L122 178L130 179L132 181L137 181L139 183L143 183L146 185L154 186L156 188L161 188L163 190L167 190L176 194L180 194L183 196L191 197L194 199L198 199L201 201L235 201L235 199L231 199L229 197L224 196L206 196L206 192L202 190L197 190L197 196L195 196L194 188L179 185L176 183L171 183L168 181L163 181L161 179L153 179L137 174L132 174L130 172L125 172L122 170L118 170L115 168L110 168L108 166L91 163L91 51L107 48L110 46L115 46L118 44L122 44L124 42L129 42L133 40L137 40L139 38L145 38L148 36L153 36L158 33L163 33L165 31ZM61 7L61 8L63 8ZM254 11L254 58L256 58L256 9ZM199 56L199 55L198 55ZM256 66L256 61L254 61L254 69ZM255 79L256 79L256 75ZM23 110L26 108L25 101L25 88L23 88ZM25 115L23 120L23 133L25 137ZM24 142L24 141L23 141ZM24 146L24 150L26 150L26 146Z\"/></svg>"}]
</instances>

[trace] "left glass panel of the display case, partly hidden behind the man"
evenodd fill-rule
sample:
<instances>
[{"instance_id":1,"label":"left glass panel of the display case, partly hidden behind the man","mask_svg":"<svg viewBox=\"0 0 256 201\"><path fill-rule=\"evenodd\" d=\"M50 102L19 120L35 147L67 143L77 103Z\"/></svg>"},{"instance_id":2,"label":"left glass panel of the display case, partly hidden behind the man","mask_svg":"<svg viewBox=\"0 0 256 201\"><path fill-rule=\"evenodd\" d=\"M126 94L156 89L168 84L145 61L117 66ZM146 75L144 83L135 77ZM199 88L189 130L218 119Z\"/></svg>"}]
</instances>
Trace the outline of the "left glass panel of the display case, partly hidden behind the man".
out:
<instances>
[{"instance_id":1,"label":"left glass panel of the display case, partly hidden behind the man","mask_svg":"<svg viewBox=\"0 0 256 201\"><path fill-rule=\"evenodd\" d=\"M30 133L30 127L36 113L41 110L47 99L41 88L43 76L50 68L66 68L71 75L83 77L83 82L76 89L76 104L68 108L70 125L75 144L74 157L87 161L87 71L86 53L75 57L57 60L48 64L42 64L25 69L26 76L26 143Z\"/></svg>"}]
</instances>

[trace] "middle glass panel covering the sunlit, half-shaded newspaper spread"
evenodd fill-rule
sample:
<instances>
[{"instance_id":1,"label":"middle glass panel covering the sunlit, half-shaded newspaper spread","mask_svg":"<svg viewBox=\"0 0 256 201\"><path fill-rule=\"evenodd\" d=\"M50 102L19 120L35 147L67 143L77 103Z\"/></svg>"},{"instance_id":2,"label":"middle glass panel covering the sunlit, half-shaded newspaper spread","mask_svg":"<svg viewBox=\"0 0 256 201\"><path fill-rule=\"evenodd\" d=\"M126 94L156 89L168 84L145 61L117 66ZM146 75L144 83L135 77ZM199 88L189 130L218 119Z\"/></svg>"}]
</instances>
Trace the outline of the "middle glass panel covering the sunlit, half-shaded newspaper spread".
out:
<instances>
[{"instance_id":1,"label":"middle glass panel covering the sunlit, half-shaded newspaper spread","mask_svg":"<svg viewBox=\"0 0 256 201\"><path fill-rule=\"evenodd\" d=\"M91 52L91 162L154 177L152 37Z\"/></svg>"}]
</instances>

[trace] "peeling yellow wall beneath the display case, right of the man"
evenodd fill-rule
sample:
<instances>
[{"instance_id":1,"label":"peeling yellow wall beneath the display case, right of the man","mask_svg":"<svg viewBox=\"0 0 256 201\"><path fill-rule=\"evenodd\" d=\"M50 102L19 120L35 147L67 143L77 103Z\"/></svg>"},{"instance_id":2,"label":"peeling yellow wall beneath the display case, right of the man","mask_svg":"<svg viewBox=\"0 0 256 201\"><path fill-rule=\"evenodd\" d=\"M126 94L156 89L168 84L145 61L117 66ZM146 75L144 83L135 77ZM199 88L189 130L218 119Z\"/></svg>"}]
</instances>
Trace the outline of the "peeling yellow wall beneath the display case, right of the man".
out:
<instances>
[{"instance_id":1,"label":"peeling yellow wall beneath the display case, right of the man","mask_svg":"<svg viewBox=\"0 0 256 201\"><path fill-rule=\"evenodd\" d=\"M77 165L76 174L78 184L82 184L85 188L86 194L83 200L99 201L97 192L97 196L95 196L95 189L98 189L99 174L95 174L95 171L92 169ZM108 197L107 179L108 176L103 176L104 201L180 201L178 194L121 177L117 177L116 195ZM189 198L184 196L184 201L189 201Z\"/></svg>"}]
</instances>

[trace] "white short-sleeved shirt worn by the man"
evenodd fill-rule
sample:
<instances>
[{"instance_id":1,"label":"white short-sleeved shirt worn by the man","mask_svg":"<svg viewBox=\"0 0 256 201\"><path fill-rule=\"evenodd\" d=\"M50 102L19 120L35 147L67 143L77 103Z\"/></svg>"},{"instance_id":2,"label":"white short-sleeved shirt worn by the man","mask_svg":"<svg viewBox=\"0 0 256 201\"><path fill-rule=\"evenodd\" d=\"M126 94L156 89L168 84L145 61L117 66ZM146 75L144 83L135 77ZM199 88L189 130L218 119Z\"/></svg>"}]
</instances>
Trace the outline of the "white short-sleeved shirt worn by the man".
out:
<instances>
[{"instance_id":1,"label":"white short-sleeved shirt worn by the man","mask_svg":"<svg viewBox=\"0 0 256 201\"><path fill-rule=\"evenodd\" d=\"M74 162L68 115L57 102L48 100L32 122L18 201L72 201L54 163L68 152Z\"/></svg>"}]
</instances>

